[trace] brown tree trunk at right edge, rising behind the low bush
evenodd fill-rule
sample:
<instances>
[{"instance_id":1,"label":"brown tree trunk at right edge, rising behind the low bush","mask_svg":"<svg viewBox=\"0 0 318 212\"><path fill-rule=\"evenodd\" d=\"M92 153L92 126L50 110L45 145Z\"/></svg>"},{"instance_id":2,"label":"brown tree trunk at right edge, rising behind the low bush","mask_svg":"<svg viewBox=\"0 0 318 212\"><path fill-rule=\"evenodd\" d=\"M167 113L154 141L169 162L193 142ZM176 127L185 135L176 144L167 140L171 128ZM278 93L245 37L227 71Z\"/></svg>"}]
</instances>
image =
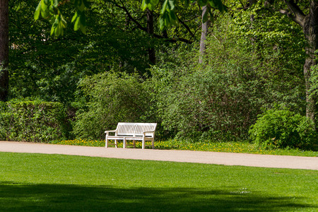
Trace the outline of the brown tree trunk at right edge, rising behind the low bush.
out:
<instances>
[{"instance_id":1,"label":"brown tree trunk at right edge, rising behind the low bush","mask_svg":"<svg viewBox=\"0 0 318 212\"><path fill-rule=\"evenodd\" d=\"M312 76L311 67L316 65L314 52L318 49L318 2L310 1L310 13L306 16L303 26L305 37L309 42L306 47L307 59L304 65L304 76L306 86L306 116L313 121L315 120L316 100L317 97L311 94L312 84L310 78Z\"/></svg>"}]
</instances>

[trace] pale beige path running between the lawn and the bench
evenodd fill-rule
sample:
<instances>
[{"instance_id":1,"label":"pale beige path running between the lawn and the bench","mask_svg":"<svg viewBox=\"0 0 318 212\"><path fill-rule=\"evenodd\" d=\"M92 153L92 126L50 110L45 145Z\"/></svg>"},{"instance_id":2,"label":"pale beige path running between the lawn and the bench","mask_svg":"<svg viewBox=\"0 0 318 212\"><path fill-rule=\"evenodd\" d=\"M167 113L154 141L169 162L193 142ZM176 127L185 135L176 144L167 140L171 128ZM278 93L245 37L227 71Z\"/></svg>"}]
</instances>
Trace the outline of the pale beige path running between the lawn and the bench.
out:
<instances>
[{"instance_id":1,"label":"pale beige path running between the lawn and the bench","mask_svg":"<svg viewBox=\"0 0 318 212\"><path fill-rule=\"evenodd\" d=\"M124 158L134 160L163 160L185 163L208 163L218 165L244 165L253 167L318 170L318 157L283 155L256 155L246 153L215 153L204 151L153 149L143 150L140 148L123 149L13 141L0 141L0 152L84 155L91 157Z\"/></svg>"}]
</instances>

